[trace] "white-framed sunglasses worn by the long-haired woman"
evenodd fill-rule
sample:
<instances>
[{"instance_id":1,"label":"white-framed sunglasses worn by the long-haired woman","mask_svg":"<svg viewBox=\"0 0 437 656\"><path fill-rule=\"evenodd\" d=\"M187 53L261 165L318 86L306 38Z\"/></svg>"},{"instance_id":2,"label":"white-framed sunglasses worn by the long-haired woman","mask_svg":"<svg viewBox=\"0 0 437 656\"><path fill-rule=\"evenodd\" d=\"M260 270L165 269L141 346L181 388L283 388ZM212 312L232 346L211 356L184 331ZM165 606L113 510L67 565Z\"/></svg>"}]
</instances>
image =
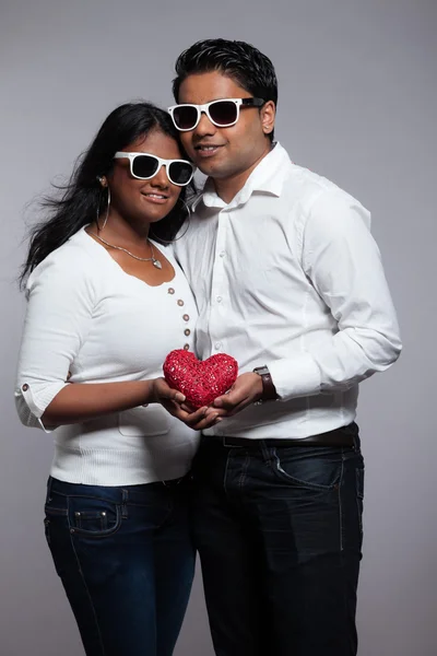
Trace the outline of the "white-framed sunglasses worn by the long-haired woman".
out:
<instances>
[{"instance_id":1,"label":"white-framed sunglasses worn by the long-haired woman","mask_svg":"<svg viewBox=\"0 0 437 656\"><path fill-rule=\"evenodd\" d=\"M114 159L129 160L131 176L139 180L149 180L164 166L169 181L178 187L189 185L196 171L187 160L163 160L150 153L117 151Z\"/></svg>"}]
</instances>

